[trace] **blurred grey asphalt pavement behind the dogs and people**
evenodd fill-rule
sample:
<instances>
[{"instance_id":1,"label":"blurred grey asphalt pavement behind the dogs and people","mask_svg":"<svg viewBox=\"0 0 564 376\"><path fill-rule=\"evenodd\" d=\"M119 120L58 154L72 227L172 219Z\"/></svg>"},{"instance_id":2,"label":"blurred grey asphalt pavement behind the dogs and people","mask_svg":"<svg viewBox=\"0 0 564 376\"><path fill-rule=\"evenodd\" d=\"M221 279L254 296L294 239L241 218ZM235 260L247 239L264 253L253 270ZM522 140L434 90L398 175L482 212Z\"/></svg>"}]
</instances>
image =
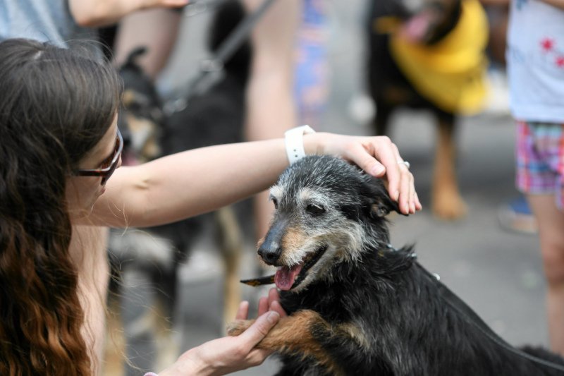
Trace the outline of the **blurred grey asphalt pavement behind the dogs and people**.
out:
<instances>
[{"instance_id":1,"label":"blurred grey asphalt pavement behind the dogs and people","mask_svg":"<svg viewBox=\"0 0 564 376\"><path fill-rule=\"evenodd\" d=\"M355 135L369 134L364 125L370 107L363 100L363 40L361 0L331 1L330 61L333 76L331 97L323 130ZM185 39L161 78L166 92L186 77L186 67L202 56L195 53L195 16L185 26ZM191 62L191 63L190 63ZM190 65L191 64L191 65ZM338 73L338 74L336 74ZM548 346L545 281L536 235L504 231L498 207L515 198L513 147L515 128L507 111L490 111L460 119L458 123L457 174L468 206L467 216L455 222L433 217L429 210L431 171L434 158L434 126L431 118L405 111L394 118L391 138L403 158L411 163L424 210L410 217L391 217L391 240L400 247L415 244L419 261L466 301L510 344ZM181 332L183 348L221 336L221 262L218 253L202 241L180 275L183 292ZM255 277L255 250L249 245L242 277ZM257 291L244 286L245 298ZM238 372L238 375L269 375L276 360Z\"/></svg>"}]
</instances>

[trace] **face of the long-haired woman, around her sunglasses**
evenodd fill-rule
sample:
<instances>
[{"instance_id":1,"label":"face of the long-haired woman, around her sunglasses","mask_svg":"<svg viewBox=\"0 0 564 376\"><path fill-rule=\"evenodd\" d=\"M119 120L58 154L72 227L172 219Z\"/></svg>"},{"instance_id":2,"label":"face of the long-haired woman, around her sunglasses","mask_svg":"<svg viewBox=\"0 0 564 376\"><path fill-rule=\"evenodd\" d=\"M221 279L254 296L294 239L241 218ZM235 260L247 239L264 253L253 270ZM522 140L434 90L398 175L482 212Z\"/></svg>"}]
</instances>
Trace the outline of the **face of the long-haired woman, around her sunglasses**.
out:
<instances>
[{"instance_id":1,"label":"face of the long-haired woman, around her sunglasses","mask_svg":"<svg viewBox=\"0 0 564 376\"><path fill-rule=\"evenodd\" d=\"M96 146L79 162L79 169L99 169L104 160L114 155L116 150L116 135L118 131L118 116ZM121 166L121 158L118 167ZM72 176L66 184L66 200L71 219L82 218L92 212L94 202L104 193L101 176Z\"/></svg>"}]
</instances>

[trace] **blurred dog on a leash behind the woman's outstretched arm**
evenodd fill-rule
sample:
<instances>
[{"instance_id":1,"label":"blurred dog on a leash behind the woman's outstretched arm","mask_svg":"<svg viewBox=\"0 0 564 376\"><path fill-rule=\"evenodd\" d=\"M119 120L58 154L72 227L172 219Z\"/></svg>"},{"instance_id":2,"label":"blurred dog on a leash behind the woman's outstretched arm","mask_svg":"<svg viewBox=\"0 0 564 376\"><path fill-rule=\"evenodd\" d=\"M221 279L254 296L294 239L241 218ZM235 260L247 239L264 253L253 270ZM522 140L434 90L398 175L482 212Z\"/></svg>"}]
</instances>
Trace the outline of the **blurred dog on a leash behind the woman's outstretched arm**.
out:
<instances>
[{"instance_id":1,"label":"blurred dog on a leash behind the woman's outstretched arm","mask_svg":"<svg viewBox=\"0 0 564 376\"><path fill-rule=\"evenodd\" d=\"M222 2L210 21L209 49L214 51L243 16L239 1ZM125 142L124 164L243 140L250 44L243 44L226 61L219 81L205 92L185 98L187 106L172 114L164 112L163 101L152 80L136 63L144 52L143 48L132 51L120 69L124 81L123 109L119 116ZM114 311L120 313L121 322L114 320L109 326L123 327L122 345L128 362L133 365L128 373L155 369L156 364L168 361L163 357L178 356L181 339L171 332L176 320L182 320L177 317L178 267L207 226L213 226L216 231L214 238L218 239L223 260L223 317L228 322L235 317L241 300L238 280L243 229L233 207L150 229L112 231L109 249L115 278L110 301ZM157 347L157 343L163 346ZM111 356L111 351L106 353ZM118 372L122 368L121 359L112 359L106 369Z\"/></svg>"}]
</instances>

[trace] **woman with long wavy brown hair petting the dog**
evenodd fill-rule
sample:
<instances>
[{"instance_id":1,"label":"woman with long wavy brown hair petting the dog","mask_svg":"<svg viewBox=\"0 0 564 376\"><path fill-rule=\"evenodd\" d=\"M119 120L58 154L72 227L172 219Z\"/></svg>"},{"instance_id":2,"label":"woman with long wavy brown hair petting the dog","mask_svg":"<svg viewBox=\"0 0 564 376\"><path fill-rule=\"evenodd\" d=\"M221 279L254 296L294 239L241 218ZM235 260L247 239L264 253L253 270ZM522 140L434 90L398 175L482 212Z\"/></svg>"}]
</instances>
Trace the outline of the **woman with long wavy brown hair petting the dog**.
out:
<instances>
[{"instance_id":1,"label":"woman with long wavy brown hair petting the dog","mask_svg":"<svg viewBox=\"0 0 564 376\"><path fill-rule=\"evenodd\" d=\"M274 183L288 145L220 145L117 169L121 81L108 63L6 40L0 90L0 375L95 375L103 332L95 321L109 273L105 254L81 247L92 239L77 238L77 226L154 226L216 210ZM401 210L421 209L388 138L312 133L301 142L302 153L336 154L386 174ZM242 303L238 318L247 309ZM192 348L160 375L221 375L262 363L269 353L254 346L280 315L272 292L245 333Z\"/></svg>"}]
</instances>

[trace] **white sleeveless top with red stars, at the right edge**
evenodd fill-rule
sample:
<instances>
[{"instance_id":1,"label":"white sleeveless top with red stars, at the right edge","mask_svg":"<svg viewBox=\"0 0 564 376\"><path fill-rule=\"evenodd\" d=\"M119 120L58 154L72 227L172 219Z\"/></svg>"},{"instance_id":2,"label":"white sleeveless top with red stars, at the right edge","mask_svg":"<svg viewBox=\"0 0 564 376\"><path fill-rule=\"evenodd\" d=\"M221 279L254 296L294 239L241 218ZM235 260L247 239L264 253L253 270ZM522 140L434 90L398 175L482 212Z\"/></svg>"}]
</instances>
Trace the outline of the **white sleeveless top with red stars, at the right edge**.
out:
<instances>
[{"instance_id":1,"label":"white sleeveless top with red stars, at the right edge","mask_svg":"<svg viewBox=\"0 0 564 376\"><path fill-rule=\"evenodd\" d=\"M513 117L564 123L564 10L512 0L506 57Z\"/></svg>"}]
</instances>

